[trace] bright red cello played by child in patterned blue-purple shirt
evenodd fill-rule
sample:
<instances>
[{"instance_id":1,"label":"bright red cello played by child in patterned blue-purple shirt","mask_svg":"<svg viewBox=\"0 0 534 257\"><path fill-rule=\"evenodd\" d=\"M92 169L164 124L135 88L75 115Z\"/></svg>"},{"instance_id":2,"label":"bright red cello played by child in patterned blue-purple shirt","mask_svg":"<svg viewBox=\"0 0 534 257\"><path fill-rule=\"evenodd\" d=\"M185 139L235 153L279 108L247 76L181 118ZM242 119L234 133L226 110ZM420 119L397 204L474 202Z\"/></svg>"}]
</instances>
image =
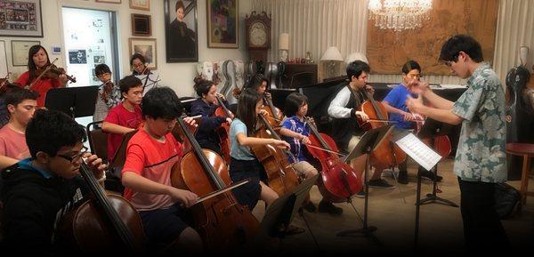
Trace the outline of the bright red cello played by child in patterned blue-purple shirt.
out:
<instances>
[{"instance_id":1,"label":"bright red cello played by child in patterned blue-purple shirt","mask_svg":"<svg viewBox=\"0 0 534 257\"><path fill-rule=\"evenodd\" d=\"M304 117L311 134L311 143L306 144L308 152L320 162L318 188L320 194L332 203L343 203L361 190L361 178L336 154L336 142L327 134L319 133L309 117Z\"/></svg>"}]
</instances>

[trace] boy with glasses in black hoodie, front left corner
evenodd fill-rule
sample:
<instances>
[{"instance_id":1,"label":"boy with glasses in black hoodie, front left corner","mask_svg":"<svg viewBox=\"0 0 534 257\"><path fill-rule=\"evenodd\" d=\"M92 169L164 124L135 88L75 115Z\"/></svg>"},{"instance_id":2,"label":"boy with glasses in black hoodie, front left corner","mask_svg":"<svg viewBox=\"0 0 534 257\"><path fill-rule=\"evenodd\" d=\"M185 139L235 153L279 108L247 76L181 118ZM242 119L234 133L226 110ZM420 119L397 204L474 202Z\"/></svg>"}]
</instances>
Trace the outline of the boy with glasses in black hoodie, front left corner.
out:
<instances>
[{"instance_id":1,"label":"boy with glasses in black hoodie, front left corner","mask_svg":"<svg viewBox=\"0 0 534 257\"><path fill-rule=\"evenodd\" d=\"M31 157L2 171L6 253L61 252L56 227L85 202L88 192L79 175L83 158L97 180L105 178L105 165L87 153L85 140L85 128L61 112L39 109L29 121L26 141Z\"/></svg>"}]
</instances>

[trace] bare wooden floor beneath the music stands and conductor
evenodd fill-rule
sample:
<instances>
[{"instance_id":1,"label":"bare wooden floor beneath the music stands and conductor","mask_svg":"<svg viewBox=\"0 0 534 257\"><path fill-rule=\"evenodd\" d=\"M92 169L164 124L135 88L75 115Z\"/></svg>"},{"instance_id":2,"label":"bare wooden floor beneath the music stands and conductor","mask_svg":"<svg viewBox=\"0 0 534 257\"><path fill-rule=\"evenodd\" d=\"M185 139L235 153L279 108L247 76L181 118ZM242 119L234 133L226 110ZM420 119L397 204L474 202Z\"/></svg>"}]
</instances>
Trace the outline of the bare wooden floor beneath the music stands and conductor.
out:
<instances>
[{"instance_id":1,"label":"bare wooden floor beneath the music stands and conductor","mask_svg":"<svg viewBox=\"0 0 534 257\"><path fill-rule=\"evenodd\" d=\"M452 173L453 159L444 160L439 165L439 174L443 181L438 183L442 193L438 197L460 204L460 192L457 176ZM355 254L358 253L401 253L458 255L464 253L464 236L462 217L459 208L448 205L422 205L420 209L420 225L417 248L415 242L417 169L409 165L409 184L398 184L396 189L369 189L368 224L377 227L374 235L378 242L366 237L336 237L336 234L346 229L360 229L363 215L364 200L354 197L352 205L338 204L344 209L341 216L328 213L307 213L304 218L310 229L306 228L303 218L297 216L293 225L306 229L300 235L285 237L281 241L271 243L271 253L299 254L300 256ZM384 179L394 183L391 173L385 173ZM508 181L519 189L520 181ZM534 187L534 179L530 178L530 185ZM423 180L422 198L432 192L432 181ZM312 188L312 202L319 204L321 196L317 187ZM260 202L253 212L258 220L262 220L264 213L263 202ZM534 253L534 197L529 197L527 205L523 206L522 214L515 213L508 220L502 221L506 233L514 247L514 251L528 251ZM316 237L318 246L314 244L312 234ZM320 248L320 250L318 249ZM527 254L527 255L530 255Z\"/></svg>"}]
</instances>

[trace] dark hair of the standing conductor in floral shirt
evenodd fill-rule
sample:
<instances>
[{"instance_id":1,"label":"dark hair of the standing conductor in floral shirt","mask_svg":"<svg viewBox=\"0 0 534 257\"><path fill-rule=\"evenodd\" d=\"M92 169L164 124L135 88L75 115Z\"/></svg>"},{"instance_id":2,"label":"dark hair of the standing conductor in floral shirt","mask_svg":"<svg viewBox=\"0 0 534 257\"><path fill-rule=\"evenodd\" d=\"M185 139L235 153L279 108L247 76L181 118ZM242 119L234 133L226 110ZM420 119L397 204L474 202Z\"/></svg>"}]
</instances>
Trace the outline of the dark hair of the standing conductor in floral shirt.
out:
<instances>
[{"instance_id":1,"label":"dark hair of the standing conductor in floral shirt","mask_svg":"<svg viewBox=\"0 0 534 257\"><path fill-rule=\"evenodd\" d=\"M473 36L468 35L451 36L441 46L440 58L438 60L457 61L460 52L467 53L474 62L484 61L481 44Z\"/></svg>"}]
</instances>

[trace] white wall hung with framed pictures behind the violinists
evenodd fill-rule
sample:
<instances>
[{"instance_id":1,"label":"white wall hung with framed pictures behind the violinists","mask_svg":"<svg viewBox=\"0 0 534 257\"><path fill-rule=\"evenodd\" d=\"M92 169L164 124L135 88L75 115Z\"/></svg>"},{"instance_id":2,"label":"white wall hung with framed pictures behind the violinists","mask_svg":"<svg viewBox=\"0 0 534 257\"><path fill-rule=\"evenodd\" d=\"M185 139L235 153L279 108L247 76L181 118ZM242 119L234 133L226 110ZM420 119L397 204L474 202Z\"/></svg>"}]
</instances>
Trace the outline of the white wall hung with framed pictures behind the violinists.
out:
<instances>
[{"instance_id":1,"label":"white wall hung with framed pictures behind the violinists","mask_svg":"<svg viewBox=\"0 0 534 257\"><path fill-rule=\"evenodd\" d=\"M198 13L198 60L247 60L247 48L245 44L244 19L252 12L251 0L239 0L239 49L217 49L207 48L207 28L206 28L206 0L197 1ZM78 7L94 10L117 12L117 32L119 40L119 64L120 76L129 75L128 38L132 36L131 13L150 14L152 18L152 36L147 38L157 39L158 69L155 71L160 75L160 84L168 85L178 93L179 96L193 95L193 78L196 76L197 63L166 63L165 56L165 17L164 1L151 0L150 11L130 9L129 0L122 0L121 4L95 3L94 0L41 0L41 10L43 15L44 37L5 37L0 36L0 40L5 41L8 58L9 71L13 73L12 80L20 73L27 70L26 67L12 67L11 40L38 40L51 55L51 59L58 57L56 62L59 67L65 67L64 53L53 55L52 46L61 46L64 52L61 21L61 7ZM117 72L117 71L115 71ZM4 76L4 75L0 75Z\"/></svg>"}]
</instances>

